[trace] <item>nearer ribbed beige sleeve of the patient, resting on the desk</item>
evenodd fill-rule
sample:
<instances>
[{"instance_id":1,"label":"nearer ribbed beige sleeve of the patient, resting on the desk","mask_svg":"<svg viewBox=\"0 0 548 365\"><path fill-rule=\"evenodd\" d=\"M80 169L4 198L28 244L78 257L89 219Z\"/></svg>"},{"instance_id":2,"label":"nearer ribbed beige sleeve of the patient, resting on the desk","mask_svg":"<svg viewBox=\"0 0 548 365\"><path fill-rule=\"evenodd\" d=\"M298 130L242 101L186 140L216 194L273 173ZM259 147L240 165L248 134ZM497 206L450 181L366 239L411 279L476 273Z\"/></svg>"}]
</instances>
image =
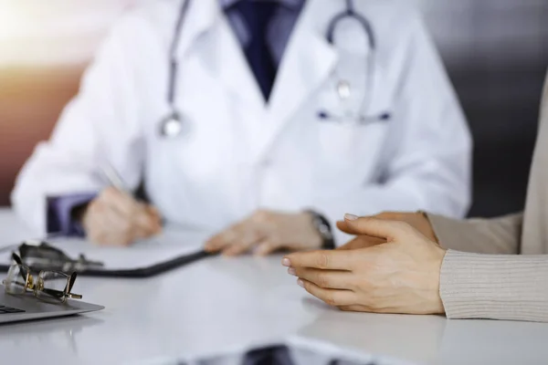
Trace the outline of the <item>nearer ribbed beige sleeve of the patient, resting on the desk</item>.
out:
<instances>
[{"instance_id":1,"label":"nearer ribbed beige sleeve of the patient, resting on the desk","mask_svg":"<svg viewBox=\"0 0 548 365\"><path fill-rule=\"evenodd\" d=\"M448 318L548 321L548 255L449 250L439 294Z\"/></svg>"}]
</instances>

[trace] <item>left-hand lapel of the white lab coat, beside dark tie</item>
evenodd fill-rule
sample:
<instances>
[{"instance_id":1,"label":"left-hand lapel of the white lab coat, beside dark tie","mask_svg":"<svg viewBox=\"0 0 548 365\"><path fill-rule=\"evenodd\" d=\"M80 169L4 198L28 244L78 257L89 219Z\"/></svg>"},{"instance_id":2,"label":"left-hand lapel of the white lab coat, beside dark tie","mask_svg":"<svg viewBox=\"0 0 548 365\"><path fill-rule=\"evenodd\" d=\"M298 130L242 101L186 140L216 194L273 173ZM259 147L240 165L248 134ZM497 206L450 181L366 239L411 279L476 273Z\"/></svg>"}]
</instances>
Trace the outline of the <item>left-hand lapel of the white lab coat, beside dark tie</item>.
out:
<instances>
[{"instance_id":1,"label":"left-hand lapel of the white lab coat, beside dark tie","mask_svg":"<svg viewBox=\"0 0 548 365\"><path fill-rule=\"evenodd\" d=\"M258 84L218 1L193 1L191 6L195 8L188 16L185 56L200 57L200 64L227 89L229 98L243 101L250 109L264 109Z\"/></svg>"}]
</instances>

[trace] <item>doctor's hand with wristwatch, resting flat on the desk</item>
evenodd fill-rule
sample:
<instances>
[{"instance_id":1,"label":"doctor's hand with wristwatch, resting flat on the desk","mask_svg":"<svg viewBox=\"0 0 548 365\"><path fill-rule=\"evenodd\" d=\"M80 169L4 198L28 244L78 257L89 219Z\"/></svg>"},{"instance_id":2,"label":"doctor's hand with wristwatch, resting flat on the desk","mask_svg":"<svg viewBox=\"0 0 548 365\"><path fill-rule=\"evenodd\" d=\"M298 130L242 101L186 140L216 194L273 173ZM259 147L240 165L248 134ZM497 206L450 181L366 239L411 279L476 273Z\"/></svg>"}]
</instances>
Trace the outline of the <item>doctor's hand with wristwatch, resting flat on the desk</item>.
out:
<instances>
[{"instance_id":1,"label":"doctor's hand with wristwatch, resting flat on the desk","mask_svg":"<svg viewBox=\"0 0 548 365\"><path fill-rule=\"evenodd\" d=\"M241 255L253 250L256 255L269 255L279 249L320 248L321 242L311 214L258 211L210 238L205 251Z\"/></svg>"}]
</instances>

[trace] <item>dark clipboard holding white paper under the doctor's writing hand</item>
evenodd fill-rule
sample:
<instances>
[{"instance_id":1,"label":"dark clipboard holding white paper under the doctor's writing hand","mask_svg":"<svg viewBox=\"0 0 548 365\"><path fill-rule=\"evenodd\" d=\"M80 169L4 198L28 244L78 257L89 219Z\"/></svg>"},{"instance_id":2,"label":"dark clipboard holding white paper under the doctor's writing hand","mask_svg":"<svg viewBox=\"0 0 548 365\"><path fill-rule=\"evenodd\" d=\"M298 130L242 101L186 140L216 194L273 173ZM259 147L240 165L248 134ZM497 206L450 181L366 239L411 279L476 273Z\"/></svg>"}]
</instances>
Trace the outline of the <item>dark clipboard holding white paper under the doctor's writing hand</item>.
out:
<instances>
[{"instance_id":1,"label":"dark clipboard holding white paper under the doctor's writing hand","mask_svg":"<svg viewBox=\"0 0 548 365\"><path fill-rule=\"evenodd\" d=\"M170 229L129 247L100 247L83 239L66 237L47 240L47 244L72 258L83 254L90 260L104 262L104 267L72 270L81 276L145 278L215 255L203 250L204 237L204 234ZM11 254L17 247L1 249L0 271L7 272L12 264ZM30 268L39 271L32 265Z\"/></svg>"}]
</instances>

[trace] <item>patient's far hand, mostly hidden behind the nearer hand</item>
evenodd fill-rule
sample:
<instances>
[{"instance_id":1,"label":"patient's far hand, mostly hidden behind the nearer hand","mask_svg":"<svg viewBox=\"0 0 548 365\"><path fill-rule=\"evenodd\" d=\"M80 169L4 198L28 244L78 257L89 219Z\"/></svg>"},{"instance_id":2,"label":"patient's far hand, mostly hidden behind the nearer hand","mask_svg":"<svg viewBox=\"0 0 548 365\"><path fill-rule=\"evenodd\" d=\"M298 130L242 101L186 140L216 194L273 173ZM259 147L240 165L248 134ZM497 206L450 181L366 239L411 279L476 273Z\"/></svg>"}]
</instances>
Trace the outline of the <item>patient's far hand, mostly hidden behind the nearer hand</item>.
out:
<instances>
[{"instance_id":1,"label":"patient's far hand, mostly hidden behind the nearer hand","mask_svg":"<svg viewBox=\"0 0 548 365\"><path fill-rule=\"evenodd\" d=\"M430 241L437 243L437 236L434 233L434 228L430 224L426 214L421 212L416 213L402 213L402 212L384 212L371 216L371 218L388 220L388 221L400 221L411 225L418 232L425 235ZM353 250L356 248L371 247L373 245L380 245L385 243L385 239L374 237L371 235L362 235L356 231L356 228L346 223L346 221L337 222L337 227L344 233L349 235L357 235L352 241L346 245L338 247L339 250Z\"/></svg>"}]
</instances>

